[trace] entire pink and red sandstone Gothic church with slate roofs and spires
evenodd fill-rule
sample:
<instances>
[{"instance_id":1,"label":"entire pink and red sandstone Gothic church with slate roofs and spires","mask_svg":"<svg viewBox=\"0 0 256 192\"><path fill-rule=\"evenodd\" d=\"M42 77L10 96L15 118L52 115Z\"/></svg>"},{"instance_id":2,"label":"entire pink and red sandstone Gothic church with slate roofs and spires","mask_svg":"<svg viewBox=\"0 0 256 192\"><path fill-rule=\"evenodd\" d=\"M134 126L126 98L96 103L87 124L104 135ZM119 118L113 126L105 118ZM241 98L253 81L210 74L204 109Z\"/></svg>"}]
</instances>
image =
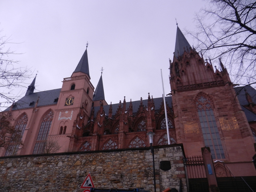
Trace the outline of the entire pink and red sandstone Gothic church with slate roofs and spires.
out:
<instances>
[{"instance_id":1,"label":"entire pink and red sandstone Gothic church with slate roofs and spires","mask_svg":"<svg viewBox=\"0 0 256 192\"><path fill-rule=\"evenodd\" d=\"M214 72L179 28L169 67L172 91L165 99L171 144L182 143L186 156L200 156L202 147L210 147L213 160L224 161L235 176L256 175L256 90L234 88L221 62ZM155 133L154 146L168 144L163 98L148 93L146 100L124 97L108 105L102 75L96 89L90 79L87 48L61 89L34 93L35 77L26 95L4 112L22 131L24 145L1 149L0 156L40 154L49 139L58 141L58 152L148 147L147 132Z\"/></svg>"}]
</instances>

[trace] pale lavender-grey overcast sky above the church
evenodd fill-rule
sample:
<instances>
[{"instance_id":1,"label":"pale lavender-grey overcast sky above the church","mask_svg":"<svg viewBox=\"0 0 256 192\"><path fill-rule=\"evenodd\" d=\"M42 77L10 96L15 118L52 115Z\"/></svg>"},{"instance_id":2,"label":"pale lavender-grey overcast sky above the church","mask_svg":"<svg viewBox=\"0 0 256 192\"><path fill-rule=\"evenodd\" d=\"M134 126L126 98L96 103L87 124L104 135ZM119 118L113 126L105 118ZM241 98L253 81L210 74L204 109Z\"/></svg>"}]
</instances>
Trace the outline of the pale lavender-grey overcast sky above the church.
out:
<instances>
[{"instance_id":1,"label":"pale lavender-grey overcast sky above the church","mask_svg":"<svg viewBox=\"0 0 256 192\"><path fill-rule=\"evenodd\" d=\"M88 41L91 82L96 88L103 67L105 99L147 99L165 94L169 58L173 59L176 21L194 30L201 0L169 1L0 1L1 35L11 36L14 59L36 77L36 92L58 89L70 77ZM187 37L187 36L186 36ZM187 37L192 46L193 42ZM28 85L33 79L27 81ZM23 89L24 95L26 89Z\"/></svg>"}]
</instances>

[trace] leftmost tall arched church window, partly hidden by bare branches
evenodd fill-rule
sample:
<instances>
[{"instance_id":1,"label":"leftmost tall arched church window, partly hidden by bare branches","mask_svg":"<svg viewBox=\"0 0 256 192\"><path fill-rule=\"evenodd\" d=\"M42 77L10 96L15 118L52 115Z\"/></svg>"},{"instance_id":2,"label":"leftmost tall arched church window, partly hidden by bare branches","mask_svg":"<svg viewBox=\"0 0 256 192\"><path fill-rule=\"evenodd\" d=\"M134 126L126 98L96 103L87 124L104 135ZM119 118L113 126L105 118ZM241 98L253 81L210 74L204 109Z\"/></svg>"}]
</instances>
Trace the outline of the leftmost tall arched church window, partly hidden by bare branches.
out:
<instances>
[{"instance_id":1,"label":"leftmost tall arched church window, partly hidden by bare branches","mask_svg":"<svg viewBox=\"0 0 256 192\"><path fill-rule=\"evenodd\" d=\"M22 136L24 134L27 123L28 123L28 116L26 114L24 114L23 116L21 116L19 118L19 120L15 124L15 131L20 133L20 138L19 139L22 139ZM19 147L20 147L20 145L17 145L15 143L11 143L8 146L8 148L5 152L5 156L16 155L16 153L18 152Z\"/></svg>"}]
</instances>

